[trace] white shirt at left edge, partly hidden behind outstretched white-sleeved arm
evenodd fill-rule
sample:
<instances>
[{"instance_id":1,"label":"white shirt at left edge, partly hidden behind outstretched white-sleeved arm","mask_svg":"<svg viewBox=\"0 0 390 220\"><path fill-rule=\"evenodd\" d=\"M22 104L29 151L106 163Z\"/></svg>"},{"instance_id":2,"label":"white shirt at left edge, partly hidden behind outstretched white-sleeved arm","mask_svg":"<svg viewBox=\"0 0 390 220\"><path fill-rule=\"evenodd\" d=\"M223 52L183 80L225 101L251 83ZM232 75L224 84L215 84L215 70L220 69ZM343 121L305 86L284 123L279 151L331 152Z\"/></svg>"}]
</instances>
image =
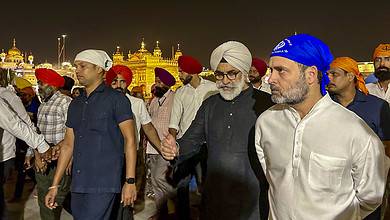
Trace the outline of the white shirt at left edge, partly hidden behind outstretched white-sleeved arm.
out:
<instances>
[{"instance_id":1,"label":"white shirt at left edge, partly hidden behind outstretched white-sleeved arm","mask_svg":"<svg viewBox=\"0 0 390 220\"><path fill-rule=\"evenodd\" d=\"M9 89L0 87L0 97L5 100L9 108L14 111L15 114L18 115L19 118L27 124L27 126L35 130L35 126L31 122L30 117L26 112L26 108L24 107L20 98L14 92L10 91ZM2 156L0 158L1 162L7 161L15 157L15 142L15 136L5 130L2 134L0 145L0 150L2 152Z\"/></svg>"}]
</instances>

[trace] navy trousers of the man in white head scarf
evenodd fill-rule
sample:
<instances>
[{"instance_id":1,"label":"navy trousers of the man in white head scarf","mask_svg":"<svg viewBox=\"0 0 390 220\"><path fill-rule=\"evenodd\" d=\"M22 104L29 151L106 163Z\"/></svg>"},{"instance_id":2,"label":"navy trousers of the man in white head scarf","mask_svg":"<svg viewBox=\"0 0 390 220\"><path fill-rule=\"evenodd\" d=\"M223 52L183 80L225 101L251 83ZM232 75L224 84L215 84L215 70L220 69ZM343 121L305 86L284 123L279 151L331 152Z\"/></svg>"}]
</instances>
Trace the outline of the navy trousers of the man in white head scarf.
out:
<instances>
[{"instance_id":1,"label":"navy trousers of the man in white head scarf","mask_svg":"<svg viewBox=\"0 0 390 220\"><path fill-rule=\"evenodd\" d=\"M73 193L74 220L110 220L116 193Z\"/></svg>"}]
</instances>

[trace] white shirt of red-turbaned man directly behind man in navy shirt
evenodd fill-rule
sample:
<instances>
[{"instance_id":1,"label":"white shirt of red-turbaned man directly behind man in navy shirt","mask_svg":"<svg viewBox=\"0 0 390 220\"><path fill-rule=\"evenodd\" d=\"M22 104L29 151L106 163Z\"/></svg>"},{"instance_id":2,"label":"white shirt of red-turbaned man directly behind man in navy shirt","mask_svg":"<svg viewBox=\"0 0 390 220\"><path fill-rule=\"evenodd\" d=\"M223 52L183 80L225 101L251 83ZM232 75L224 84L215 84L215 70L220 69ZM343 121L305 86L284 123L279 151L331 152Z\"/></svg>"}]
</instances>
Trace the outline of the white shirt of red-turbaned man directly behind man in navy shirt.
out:
<instances>
[{"instance_id":1,"label":"white shirt of red-turbaned man directly behind man in navy shirt","mask_svg":"<svg viewBox=\"0 0 390 220\"><path fill-rule=\"evenodd\" d=\"M148 109L146 108L144 100L140 98L136 98L134 96L131 96L129 94L126 94L127 98L130 100L131 103L131 111L133 112L134 121L135 121L135 137L136 137L136 144L138 148L138 144L140 141L140 130L141 125L146 125L147 123L152 122L152 119L150 118L150 115L148 113Z\"/></svg>"}]
</instances>

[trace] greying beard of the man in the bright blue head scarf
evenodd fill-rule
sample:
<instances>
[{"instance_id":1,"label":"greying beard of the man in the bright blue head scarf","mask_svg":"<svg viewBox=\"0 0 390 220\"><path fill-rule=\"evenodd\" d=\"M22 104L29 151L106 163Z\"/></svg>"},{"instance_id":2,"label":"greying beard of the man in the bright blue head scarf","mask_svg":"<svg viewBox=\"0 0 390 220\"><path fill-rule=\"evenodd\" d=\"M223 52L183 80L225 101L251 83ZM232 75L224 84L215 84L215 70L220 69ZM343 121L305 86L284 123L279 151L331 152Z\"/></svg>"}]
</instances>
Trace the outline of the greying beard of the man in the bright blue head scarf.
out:
<instances>
[{"instance_id":1,"label":"greying beard of the man in the bright blue head scarf","mask_svg":"<svg viewBox=\"0 0 390 220\"><path fill-rule=\"evenodd\" d=\"M304 73L301 73L297 82L286 91L282 91L276 85L271 84L271 99L277 104L296 105L302 103L309 93L309 85L306 83Z\"/></svg>"}]
</instances>

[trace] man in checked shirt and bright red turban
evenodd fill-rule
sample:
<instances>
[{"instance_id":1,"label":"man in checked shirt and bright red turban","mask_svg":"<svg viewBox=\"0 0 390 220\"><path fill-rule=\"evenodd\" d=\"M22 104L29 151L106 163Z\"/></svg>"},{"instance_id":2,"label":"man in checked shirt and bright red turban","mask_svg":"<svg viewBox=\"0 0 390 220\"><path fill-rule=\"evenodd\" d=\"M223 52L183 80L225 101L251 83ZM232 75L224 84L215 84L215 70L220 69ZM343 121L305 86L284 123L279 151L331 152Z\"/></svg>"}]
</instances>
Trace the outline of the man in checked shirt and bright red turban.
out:
<instances>
[{"instance_id":1,"label":"man in checked shirt and bright red turban","mask_svg":"<svg viewBox=\"0 0 390 220\"><path fill-rule=\"evenodd\" d=\"M35 76L38 80L38 92L42 104L38 109L38 129L45 137L46 142L51 146L57 145L64 139L65 122L68 112L68 106L72 98L63 95L59 89L64 86L65 80L57 72L51 69L36 69ZM58 151L58 149L56 150ZM40 158L35 153L35 162ZM45 206L45 195L54 178L57 167L57 161L47 164L42 172L37 172L38 204L40 208L41 219L54 220L60 219L62 203L70 189L70 176L65 175L58 188L57 203L58 207L49 209Z\"/></svg>"}]
</instances>

